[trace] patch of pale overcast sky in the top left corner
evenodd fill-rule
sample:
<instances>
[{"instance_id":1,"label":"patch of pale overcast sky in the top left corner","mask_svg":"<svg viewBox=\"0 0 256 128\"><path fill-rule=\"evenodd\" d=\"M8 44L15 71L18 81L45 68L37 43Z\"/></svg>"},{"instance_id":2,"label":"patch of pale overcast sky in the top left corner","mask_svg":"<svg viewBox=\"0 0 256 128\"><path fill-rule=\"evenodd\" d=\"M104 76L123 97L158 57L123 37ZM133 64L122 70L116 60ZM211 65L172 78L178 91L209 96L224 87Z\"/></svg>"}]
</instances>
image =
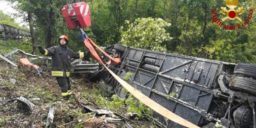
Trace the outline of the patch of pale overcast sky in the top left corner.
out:
<instances>
[{"instance_id":1,"label":"patch of pale overcast sky in the top left corner","mask_svg":"<svg viewBox=\"0 0 256 128\"><path fill-rule=\"evenodd\" d=\"M7 14L14 18L20 27L23 25L27 26L27 23L22 23L22 18L13 16L13 14L17 13L17 10L13 9L11 5L8 4L8 2L0 0L0 10L3 11L4 14Z\"/></svg>"}]
</instances>

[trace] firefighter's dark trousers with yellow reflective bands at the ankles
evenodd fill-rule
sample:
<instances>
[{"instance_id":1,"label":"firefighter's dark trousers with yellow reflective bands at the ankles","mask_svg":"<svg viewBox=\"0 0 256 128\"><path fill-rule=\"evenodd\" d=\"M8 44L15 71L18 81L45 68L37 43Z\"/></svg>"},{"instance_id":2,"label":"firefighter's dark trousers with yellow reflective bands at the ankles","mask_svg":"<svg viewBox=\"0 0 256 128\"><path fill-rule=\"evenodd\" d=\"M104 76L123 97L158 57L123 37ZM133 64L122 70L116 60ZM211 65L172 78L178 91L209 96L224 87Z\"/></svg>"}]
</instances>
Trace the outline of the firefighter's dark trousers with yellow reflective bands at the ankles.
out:
<instances>
[{"instance_id":1,"label":"firefighter's dark trousers with yellow reflective bands at the ankles","mask_svg":"<svg viewBox=\"0 0 256 128\"><path fill-rule=\"evenodd\" d=\"M62 97L71 95L69 77L56 77L56 79L60 86Z\"/></svg>"}]
</instances>

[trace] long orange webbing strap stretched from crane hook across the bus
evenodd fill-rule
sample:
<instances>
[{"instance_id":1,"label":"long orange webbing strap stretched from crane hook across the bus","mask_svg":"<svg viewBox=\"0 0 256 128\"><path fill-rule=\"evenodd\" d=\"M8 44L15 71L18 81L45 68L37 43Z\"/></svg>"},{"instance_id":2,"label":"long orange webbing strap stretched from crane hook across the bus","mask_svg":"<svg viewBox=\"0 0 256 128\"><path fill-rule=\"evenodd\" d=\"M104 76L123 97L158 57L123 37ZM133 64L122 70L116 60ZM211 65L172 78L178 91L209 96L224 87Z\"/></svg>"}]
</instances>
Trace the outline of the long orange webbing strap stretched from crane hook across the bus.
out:
<instances>
[{"instance_id":1,"label":"long orange webbing strap stretched from crane hook across the bus","mask_svg":"<svg viewBox=\"0 0 256 128\"><path fill-rule=\"evenodd\" d=\"M96 47L102 52L103 50L97 46L95 43L92 42L92 40L88 37L85 38L86 35L83 35L80 33L80 36L82 37L85 46L90 50L91 55L97 59L108 71L109 73L127 90L129 91L129 93L134 96L135 98L137 98L139 101L141 101L142 103L144 103L145 105L147 105L149 108L151 108L152 110L154 110L155 112L159 113L162 116L165 116L166 118L172 120L173 122L180 124L182 126L188 127L188 128L200 128L198 126L196 126L193 123L188 122L187 120L183 119L182 117L172 113L171 111L169 111L168 109L164 108L163 106L161 106L160 104L156 103L155 101L153 101L152 99L148 98L147 96L145 96L144 94L142 94L140 91L138 91L137 89L133 88L131 85L129 85L128 83L126 83L124 80L122 80L119 76L117 76L115 73L113 73L108 67L105 66L105 61L101 58L101 56L99 55L99 53L96 51ZM105 52L103 51L102 53L105 54ZM106 55L106 54L105 54ZM107 55L106 55L107 56ZM112 57L111 57L112 58ZM117 60L116 58L113 58L114 60ZM120 59L120 58L118 58ZM111 59L111 62L113 62L114 60ZM121 62L121 60L119 61ZM118 63L118 61L114 61L114 63Z\"/></svg>"}]
</instances>

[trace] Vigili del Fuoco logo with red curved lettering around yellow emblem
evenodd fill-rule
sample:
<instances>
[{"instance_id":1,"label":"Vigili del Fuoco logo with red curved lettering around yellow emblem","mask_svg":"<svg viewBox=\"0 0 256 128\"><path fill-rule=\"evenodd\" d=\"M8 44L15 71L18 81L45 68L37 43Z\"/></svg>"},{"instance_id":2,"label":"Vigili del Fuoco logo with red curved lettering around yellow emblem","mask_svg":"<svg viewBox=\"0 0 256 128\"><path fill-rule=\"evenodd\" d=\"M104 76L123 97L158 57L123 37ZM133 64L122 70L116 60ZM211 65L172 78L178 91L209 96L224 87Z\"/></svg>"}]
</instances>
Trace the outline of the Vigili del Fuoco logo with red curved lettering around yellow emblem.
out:
<instances>
[{"instance_id":1,"label":"Vigili del Fuoco logo with red curved lettering around yellow emblem","mask_svg":"<svg viewBox=\"0 0 256 128\"><path fill-rule=\"evenodd\" d=\"M216 9L212 11L213 22L218 24L218 26L223 27L223 22L225 20L239 20L240 22L243 22L237 25L224 25L224 29L235 30L244 27L250 22L250 19L252 18L253 14L252 9L249 11L248 17L243 21L243 19L241 19L239 16L244 13L244 10L243 7L237 8L239 5L238 0L226 0L225 4L228 7L228 9L226 7L221 7L220 12L221 14L223 14L223 18L221 20L217 18L217 14L215 13Z\"/></svg>"}]
</instances>

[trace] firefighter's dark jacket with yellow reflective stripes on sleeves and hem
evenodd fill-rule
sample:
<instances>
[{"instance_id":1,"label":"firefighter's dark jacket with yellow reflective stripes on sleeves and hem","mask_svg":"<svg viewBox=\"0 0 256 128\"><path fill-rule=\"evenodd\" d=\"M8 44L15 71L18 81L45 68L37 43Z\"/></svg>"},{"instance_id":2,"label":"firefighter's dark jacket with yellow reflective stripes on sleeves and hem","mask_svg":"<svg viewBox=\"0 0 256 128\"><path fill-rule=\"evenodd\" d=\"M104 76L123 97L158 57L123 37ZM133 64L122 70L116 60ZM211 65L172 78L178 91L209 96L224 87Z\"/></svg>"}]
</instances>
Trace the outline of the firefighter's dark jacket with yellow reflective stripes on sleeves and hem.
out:
<instances>
[{"instance_id":1,"label":"firefighter's dark jacket with yellow reflective stripes on sleeves and hem","mask_svg":"<svg viewBox=\"0 0 256 128\"><path fill-rule=\"evenodd\" d=\"M71 58L79 59L88 56L89 52L73 52L66 45L44 49L44 56L52 56L52 76L69 77Z\"/></svg>"}]
</instances>

